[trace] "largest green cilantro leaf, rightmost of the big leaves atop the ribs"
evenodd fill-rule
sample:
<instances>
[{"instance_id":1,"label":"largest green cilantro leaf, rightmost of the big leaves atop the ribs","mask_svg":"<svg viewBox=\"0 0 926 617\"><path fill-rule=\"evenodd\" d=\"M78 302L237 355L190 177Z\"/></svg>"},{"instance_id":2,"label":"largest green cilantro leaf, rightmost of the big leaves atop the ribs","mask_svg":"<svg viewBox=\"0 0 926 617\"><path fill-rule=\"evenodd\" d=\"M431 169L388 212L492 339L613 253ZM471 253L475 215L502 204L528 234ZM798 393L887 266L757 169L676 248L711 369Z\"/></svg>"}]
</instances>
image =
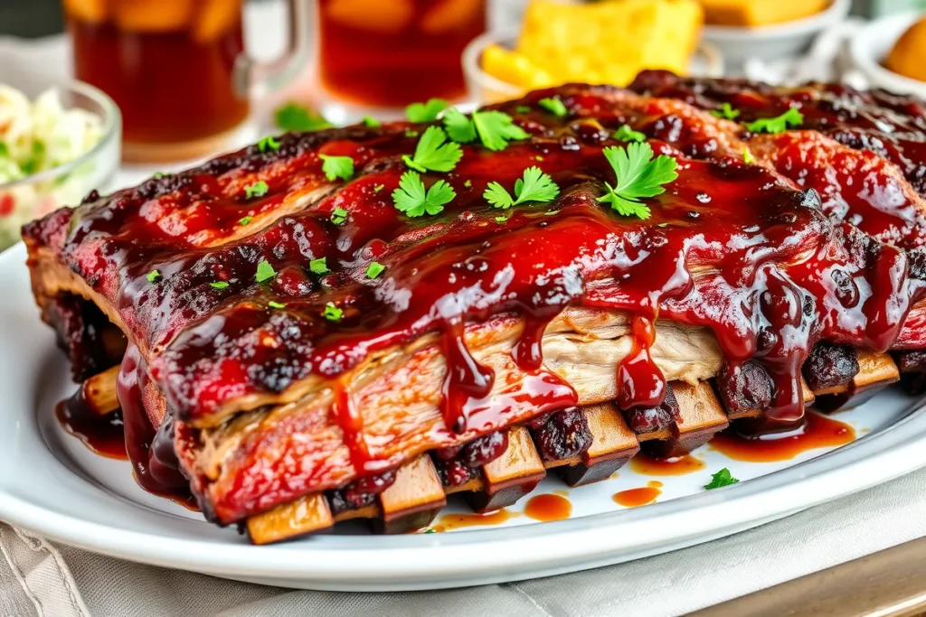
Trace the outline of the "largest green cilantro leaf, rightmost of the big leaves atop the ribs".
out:
<instances>
[{"instance_id":1,"label":"largest green cilantro leaf, rightmost of the big leaves atop the ribs","mask_svg":"<svg viewBox=\"0 0 926 617\"><path fill-rule=\"evenodd\" d=\"M649 218L649 206L640 199L662 194L666 191L662 185L679 177L676 160L665 154L654 159L653 148L647 142L632 142L626 148L608 146L604 154L614 169L617 185L612 187L606 182L607 193L598 201L611 204L621 216Z\"/></svg>"}]
</instances>

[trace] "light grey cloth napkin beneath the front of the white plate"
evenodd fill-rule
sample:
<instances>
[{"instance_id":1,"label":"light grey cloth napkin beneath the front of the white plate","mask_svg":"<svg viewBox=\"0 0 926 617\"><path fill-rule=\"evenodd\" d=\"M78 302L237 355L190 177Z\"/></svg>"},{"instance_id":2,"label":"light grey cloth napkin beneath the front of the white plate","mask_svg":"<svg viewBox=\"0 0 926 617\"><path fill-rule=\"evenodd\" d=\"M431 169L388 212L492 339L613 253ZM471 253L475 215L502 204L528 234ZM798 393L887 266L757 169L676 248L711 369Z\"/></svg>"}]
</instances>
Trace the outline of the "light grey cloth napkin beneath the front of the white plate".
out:
<instances>
[{"instance_id":1,"label":"light grey cloth napkin beneath the front of the white plate","mask_svg":"<svg viewBox=\"0 0 926 617\"><path fill-rule=\"evenodd\" d=\"M0 615L678 615L923 536L926 470L690 549L444 591L357 594L249 585L94 555L0 524Z\"/></svg>"}]
</instances>

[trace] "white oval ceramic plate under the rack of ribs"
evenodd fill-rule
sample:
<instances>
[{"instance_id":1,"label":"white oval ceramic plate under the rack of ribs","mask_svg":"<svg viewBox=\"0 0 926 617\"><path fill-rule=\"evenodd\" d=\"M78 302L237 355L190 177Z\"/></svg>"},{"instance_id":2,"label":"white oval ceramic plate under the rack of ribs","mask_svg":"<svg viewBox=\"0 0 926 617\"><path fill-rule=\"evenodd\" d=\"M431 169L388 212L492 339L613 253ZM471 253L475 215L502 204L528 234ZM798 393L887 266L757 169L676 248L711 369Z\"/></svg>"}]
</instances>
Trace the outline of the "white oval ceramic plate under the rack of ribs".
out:
<instances>
[{"instance_id":1,"label":"white oval ceramic plate under the rack of ribs","mask_svg":"<svg viewBox=\"0 0 926 617\"><path fill-rule=\"evenodd\" d=\"M871 487L926 464L926 414L888 389L838 414L859 438L787 463L740 463L702 448L691 475L618 477L569 491L569 520L525 515L495 527L395 537L337 535L253 547L233 529L207 524L145 493L128 463L100 458L57 425L56 401L74 389L51 330L29 290L25 251L0 254L0 519L84 549L132 561L255 581L334 590L470 586L563 574L691 546ZM812 458L814 455L816 458ZM729 467L740 484L705 491ZM657 503L619 507L612 495L664 483ZM535 491L565 489L548 478ZM525 500L522 500L522 502ZM523 503L511 509L520 512ZM447 512L465 512L452 502Z\"/></svg>"}]
</instances>

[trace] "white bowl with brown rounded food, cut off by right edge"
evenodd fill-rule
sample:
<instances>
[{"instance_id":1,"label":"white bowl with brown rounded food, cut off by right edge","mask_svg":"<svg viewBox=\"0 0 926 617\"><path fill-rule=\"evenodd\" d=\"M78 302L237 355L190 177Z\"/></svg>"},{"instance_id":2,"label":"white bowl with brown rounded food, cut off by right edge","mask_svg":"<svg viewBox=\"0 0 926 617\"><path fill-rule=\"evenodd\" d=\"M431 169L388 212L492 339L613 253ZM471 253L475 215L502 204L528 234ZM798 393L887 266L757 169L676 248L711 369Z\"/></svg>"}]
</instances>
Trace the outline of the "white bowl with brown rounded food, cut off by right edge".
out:
<instances>
[{"instance_id":1,"label":"white bowl with brown rounded food, cut off by right edge","mask_svg":"<svg viewBox=\"0 0 926 617\"><path fill-rule=\"evenodd\" d=\"M902 13L866 24L852 38L852 65L872 88L926 98L926 15Z\"/></svg>"}]
</instances>

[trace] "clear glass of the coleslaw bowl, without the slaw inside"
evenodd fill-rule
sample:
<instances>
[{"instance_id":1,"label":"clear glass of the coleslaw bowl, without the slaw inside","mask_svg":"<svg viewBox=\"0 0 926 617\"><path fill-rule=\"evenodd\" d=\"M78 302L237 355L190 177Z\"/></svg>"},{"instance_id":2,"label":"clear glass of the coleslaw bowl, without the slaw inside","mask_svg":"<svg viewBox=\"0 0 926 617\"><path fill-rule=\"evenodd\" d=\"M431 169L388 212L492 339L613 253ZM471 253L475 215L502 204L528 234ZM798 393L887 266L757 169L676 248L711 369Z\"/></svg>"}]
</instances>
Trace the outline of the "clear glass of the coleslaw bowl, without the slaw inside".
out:
<instances>
[{"instance_id":1,"label":"clear glass of the coleslaw bowl, without the slaw inside","mask_svg":"<svg viewBox=\"0 0 926 617\"><path fill-rule=\"evenodd\" d=\"M46 84L41 90L28 87L22 90L34 100L47 88ZM18 242L20 228L32 219L64 205L80 204L90 191L105 192L119 169L122 132L119 107L105 93L81 81L56 85L56 89L65 108L77 107L99 116L103 136L93 148L69 163L0 183L0 251Z\"/></svg>"}]
</instances>

